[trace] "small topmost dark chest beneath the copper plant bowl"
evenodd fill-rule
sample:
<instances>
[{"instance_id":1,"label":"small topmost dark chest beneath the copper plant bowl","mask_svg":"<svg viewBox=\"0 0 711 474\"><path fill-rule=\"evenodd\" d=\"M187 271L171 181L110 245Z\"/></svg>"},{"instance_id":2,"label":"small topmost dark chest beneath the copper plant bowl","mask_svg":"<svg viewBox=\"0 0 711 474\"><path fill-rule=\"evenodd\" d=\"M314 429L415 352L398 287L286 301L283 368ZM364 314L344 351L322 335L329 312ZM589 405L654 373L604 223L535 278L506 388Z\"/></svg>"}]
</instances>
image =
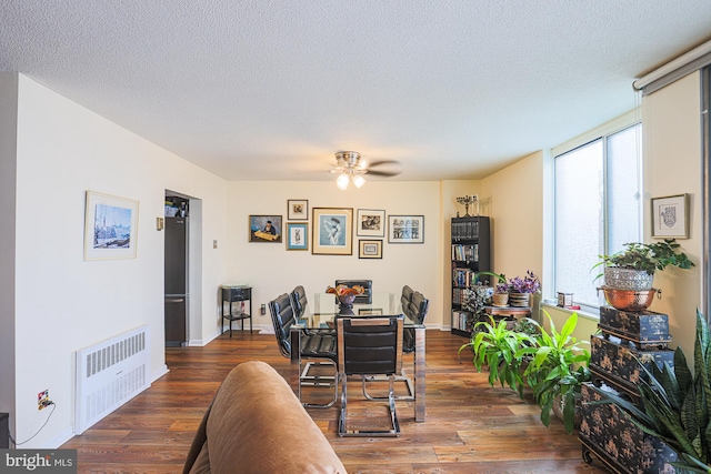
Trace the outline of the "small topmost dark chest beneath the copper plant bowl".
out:
<instances>
[{"instance_id":1,"label":"small topmost dark chest beneath the copper plant bowl","mask_svg":"<svg viewBox=\"0 0 711 474\"><path fill-rule=\"evenodd\" d=\"M641 346L665 346L671 341L669 316L653 311L620 311L602 306L598 327L605 334L627 339Z\"/></svg>"}]
</instances>

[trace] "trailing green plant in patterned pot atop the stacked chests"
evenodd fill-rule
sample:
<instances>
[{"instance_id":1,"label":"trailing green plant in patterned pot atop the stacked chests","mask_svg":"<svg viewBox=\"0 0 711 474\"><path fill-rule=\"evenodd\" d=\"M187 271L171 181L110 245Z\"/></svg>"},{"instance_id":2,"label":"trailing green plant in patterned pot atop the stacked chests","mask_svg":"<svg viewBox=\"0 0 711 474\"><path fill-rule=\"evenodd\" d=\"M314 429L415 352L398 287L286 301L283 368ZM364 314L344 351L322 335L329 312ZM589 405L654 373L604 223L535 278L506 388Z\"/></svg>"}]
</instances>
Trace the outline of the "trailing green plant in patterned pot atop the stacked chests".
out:
<instances>
[{"instance_id":1,"label":"trailing green plant in patterned pot atop the stacked chests","mask_svg":"<svg viewBox=\"0 0 711 474\"><path fill-rule=\"evenodd\" d=\"M625 243L624 250L611 255L599 255L601 261L593 265L603 268L604 284L617 290L651 290L654 271L667 266L690 269L694 263L680 251L675 239L664 239L653 243Z\"/></svg>"}]
</instances>

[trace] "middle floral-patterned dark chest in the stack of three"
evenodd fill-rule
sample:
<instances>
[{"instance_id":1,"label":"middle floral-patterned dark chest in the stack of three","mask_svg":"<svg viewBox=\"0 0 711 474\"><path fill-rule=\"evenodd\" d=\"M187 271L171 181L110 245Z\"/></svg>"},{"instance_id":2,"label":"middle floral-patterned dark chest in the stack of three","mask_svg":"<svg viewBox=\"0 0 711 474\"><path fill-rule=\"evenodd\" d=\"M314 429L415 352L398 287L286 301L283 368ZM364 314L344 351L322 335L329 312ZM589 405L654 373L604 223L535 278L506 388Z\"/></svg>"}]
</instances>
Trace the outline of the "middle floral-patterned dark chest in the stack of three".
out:
<instances>
[{"instance_id":1,"label":"middle floral-patterned dark chest in the stack of three","mask_svg":"<svg viewBox=\"0 0 711 474\"><path fill-rule=\"evenodd\" d=\"M638 360L648 369L652 363L661 369L664 362L673 367L674 351L667 347L641 350L631 341L611 335L590 337L590 372L595 385L602 380L614 390L632 395L635 403L639 401L637 384L644 376Z\"/></svg>"}]
</instances>

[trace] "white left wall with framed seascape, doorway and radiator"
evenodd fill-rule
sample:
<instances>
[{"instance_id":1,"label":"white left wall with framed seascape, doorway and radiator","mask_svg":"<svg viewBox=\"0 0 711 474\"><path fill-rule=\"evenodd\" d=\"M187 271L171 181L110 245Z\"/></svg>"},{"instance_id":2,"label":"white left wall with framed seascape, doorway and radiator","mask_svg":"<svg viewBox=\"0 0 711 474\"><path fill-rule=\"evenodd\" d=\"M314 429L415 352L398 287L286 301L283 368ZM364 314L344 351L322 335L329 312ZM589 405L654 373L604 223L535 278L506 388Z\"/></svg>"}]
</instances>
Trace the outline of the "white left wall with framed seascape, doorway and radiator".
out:
<instances>
[{"instance_id":1,"label":"white left wall with framed seascape, doorway and radiator","mask_svg":"<svg viewBox=\"0 0 711 474\"><path fill-rule=\"evenodd\" d=\"M17 147L16 430L26 447L57 446L72 433L73 351L141 324L151 327L151 372L164 372L163 214L166 189L203 202L202 319L217 330L214 289L226 274L226 182L20 75ZM138 258L83 261L87 190L140 202ZM209 244L208 244L209 243ZM212 297L210 297L212 295ZM203 317L204 316L204 317Z\"/></svg>"}]
</instances>

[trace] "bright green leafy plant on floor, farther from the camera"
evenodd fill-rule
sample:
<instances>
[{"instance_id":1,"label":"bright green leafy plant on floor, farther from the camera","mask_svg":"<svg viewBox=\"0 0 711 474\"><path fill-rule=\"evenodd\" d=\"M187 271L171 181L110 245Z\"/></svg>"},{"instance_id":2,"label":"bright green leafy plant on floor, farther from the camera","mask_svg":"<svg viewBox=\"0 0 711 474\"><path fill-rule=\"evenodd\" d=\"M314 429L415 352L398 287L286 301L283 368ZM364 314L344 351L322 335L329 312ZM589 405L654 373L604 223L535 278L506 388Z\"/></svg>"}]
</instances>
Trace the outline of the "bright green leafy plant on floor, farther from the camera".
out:
<instances>
[{"instance_id":1,"label":"bright green leafy plant on floor, farther from the camera","mask_svg":"<svg viewBox=\"0 0 711 474\"><path fill-rule=\"evenodd\" d=\"M473 336L470 342L459 347L458 355L470 347L473 351L473 364L479 372L484 364L489 366L489 384L494 385L497 381L501 386L508 385L523 393L523 379L521 376L522 355L519 351L533 342L532 337L525 333L517 332L508 327L508 322L494 321L489 316L490 322L480 321L475 324Z\"/></svg>"}]
</instances>

